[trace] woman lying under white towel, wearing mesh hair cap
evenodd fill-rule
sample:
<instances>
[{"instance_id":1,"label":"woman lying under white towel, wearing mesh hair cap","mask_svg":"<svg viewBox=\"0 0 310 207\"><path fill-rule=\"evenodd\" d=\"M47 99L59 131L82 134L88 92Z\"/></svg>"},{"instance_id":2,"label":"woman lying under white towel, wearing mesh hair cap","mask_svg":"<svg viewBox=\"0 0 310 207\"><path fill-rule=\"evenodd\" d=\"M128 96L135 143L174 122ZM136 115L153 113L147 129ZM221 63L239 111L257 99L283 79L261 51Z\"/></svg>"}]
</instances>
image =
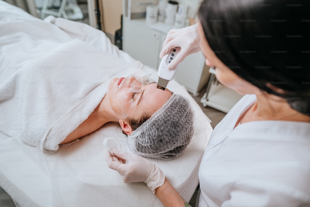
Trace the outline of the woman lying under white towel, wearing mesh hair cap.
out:
<instances>
[{"instance_id":1,"label":"woman lying under white towel, wearing mesh hair cap","mask_svg":"<svg viewBox=\"0 0 310 207\"><path fill-rule=\"evenodd\" d=\"M32 29L12 36L19 34L18 26L0 38L1 49L8 51L0 53L3 133L51 154L116 122L136 154L169 160L183 152L194 133L193 110L188 100L157 89L153 80L130 76L153 70L120 57L113 47L72 39L46 21L31 23L22 25L47 28L42 30L47 38ZM49 38L48 29L68 39Z\"/></svg>"}]
</instances>

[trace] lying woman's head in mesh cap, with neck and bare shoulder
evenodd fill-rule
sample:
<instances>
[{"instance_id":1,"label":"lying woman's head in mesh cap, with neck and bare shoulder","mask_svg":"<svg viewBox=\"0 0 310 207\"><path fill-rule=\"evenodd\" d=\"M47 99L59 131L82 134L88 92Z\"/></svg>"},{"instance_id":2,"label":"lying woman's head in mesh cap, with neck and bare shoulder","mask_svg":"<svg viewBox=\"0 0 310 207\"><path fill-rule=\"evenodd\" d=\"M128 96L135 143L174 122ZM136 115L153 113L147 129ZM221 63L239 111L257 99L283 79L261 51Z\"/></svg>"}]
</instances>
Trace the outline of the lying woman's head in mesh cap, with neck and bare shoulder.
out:
<instances>
[{"instance_id":1,"label":"lying woman's head in mesh cap, with neck and bare shoulder","mask_svg":"<svg viewBox=\"0 0 310 207\"><path fill-rule=\"evenodd\" d=\"M193 137L193 115L187 99L168 89L158 89L148 76L114 78L100 104L60 144L108 122L118 122L136 154L170 160L180 155Z\"/></svg>"}]
</instances>

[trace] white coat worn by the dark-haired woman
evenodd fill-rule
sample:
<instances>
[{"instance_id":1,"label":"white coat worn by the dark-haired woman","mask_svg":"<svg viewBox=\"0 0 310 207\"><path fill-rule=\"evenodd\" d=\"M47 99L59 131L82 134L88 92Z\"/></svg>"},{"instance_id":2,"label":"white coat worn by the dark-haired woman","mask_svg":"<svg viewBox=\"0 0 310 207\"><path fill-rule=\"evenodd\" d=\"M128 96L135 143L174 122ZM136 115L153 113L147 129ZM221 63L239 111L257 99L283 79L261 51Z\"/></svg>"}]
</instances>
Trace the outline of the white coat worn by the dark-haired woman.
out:
<instances>
[{"instance_id":1,"label":"white coat worn by the dark-haired woman","mask_svg":"<svg viewBox=\"0 0 310 207\"><path fill-rule=\"evenodd\" d=\"M310 123L254 121L233 129L255 100L244 96L215 127L199 168L199 207L310 204Z\"/></svg>"}]
</instances>

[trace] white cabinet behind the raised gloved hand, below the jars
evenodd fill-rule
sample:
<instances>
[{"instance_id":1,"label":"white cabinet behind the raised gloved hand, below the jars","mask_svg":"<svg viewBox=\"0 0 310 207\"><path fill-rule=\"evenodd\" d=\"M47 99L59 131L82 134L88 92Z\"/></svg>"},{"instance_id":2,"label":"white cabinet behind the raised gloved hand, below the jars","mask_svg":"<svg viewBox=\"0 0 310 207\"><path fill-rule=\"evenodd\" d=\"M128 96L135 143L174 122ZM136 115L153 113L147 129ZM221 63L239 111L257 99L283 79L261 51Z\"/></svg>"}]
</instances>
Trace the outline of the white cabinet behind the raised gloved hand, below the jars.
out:
<instances>
[{"instance_id":1,"label":"white cabinet behind the raised gloved hand, below the jars","mask_svg":"<svg viewBox=\"0 0 310 207\"><path fill-rule=\"evenodd\" d=\"M145 19L123 18L123 50L144 65L158 69L162 44L172 26L164 23L147 24ZM187 56L179 64L174 79L194 95L208 82L210 73L202 52Z\"/></svg>"}]
</instances>

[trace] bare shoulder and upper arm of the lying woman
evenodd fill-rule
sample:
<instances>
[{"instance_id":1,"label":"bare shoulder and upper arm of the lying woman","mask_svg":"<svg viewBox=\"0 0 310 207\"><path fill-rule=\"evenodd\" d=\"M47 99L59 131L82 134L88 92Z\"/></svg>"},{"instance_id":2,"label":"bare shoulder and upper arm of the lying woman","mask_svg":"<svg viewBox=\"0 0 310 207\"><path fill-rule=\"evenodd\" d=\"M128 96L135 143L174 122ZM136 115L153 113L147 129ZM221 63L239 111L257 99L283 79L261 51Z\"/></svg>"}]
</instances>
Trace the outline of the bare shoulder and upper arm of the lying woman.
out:
<instances>
[{"instance_id":1,"label":"bare shoulder and upper arm of the lying woman","mask_svg":"<svg viewBox=\"0 0 310 207\"><path fill-rule=\"evenodd\" d=\"M100 105L98 105L91 115L89 115L89 117L83 121L78 128L74 129L73 132L71 132L60 144L71 142L99 129L104 124L101 116L98 115L99 106Z\"/></svg>"}]
</instances>

